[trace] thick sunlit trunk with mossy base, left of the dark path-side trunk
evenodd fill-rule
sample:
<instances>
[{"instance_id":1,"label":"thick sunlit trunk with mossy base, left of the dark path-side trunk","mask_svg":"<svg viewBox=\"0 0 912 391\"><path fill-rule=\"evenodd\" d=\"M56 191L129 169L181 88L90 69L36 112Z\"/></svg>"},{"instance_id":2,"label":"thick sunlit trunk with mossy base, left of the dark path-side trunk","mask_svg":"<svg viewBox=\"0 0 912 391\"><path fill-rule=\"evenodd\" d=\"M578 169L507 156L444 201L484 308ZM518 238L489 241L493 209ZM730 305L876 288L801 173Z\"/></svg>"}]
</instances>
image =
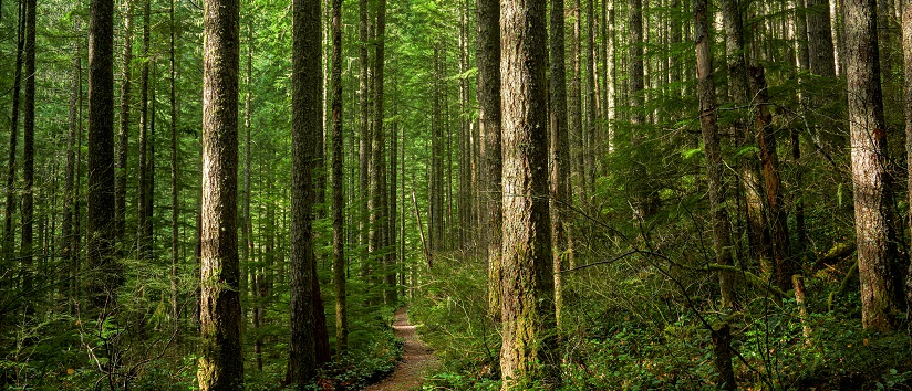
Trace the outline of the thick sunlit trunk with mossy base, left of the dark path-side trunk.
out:
<instances>
[{"instance_id":1,"label":"thick sunlit trunk with mossy base, left of the dark path-side trunk","mask_svg":"<svg viewBox=\"0 0 912 391\"><path fill-rule=\"evenodd\" d=\"M243 387L237 234L238 20L238 0L204 2L200 390Z\"/></svg>"}]
</instances>

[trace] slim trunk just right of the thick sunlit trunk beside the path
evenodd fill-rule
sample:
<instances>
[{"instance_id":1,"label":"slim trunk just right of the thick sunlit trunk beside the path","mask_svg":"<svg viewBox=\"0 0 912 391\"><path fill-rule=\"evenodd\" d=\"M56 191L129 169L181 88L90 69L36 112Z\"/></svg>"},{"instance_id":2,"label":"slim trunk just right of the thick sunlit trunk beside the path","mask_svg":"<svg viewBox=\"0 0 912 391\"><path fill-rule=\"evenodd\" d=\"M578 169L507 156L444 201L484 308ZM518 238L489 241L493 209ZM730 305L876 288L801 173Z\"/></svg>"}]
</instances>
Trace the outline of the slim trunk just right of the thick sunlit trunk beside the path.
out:
<instances>
[{"instance_id":1,"label":"slim trunk just right of the thick sunlit trunk beside the path","mask_svg":"<svg viewBox=\"0 0 912 391\"><path fill-rule=\"evenodd\" d=\"M563 307L563 295L561 288L563 282L560 272L567 258L568 234L564 223L567 215L568 199L568 177L570 162L568 157L567 139L567 72L564 65L563 44L563 0L551 0L550 23L551 50L549 55L549 75L551 77L550 99L548 104L550 120L550 201L551 201L551 246L553 252L555 270L555 319L560 326L561 309Z\"/></svg>"}]
</instances>

